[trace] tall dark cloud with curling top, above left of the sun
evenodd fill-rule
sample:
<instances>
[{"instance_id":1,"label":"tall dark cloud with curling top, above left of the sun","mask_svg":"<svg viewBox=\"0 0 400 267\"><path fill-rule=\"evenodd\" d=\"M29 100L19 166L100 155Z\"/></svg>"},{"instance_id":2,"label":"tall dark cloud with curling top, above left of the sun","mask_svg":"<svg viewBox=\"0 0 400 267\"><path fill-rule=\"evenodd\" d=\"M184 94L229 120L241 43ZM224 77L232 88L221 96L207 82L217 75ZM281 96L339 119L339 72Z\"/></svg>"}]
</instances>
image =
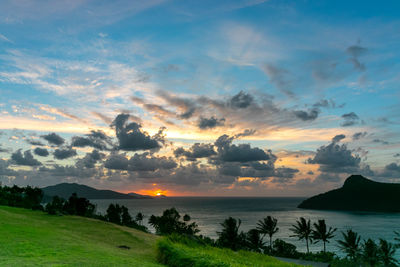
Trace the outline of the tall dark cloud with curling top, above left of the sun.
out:
<instances>
[{"instance_id":1,"label":"tall dark cloud with curling top, above left of the sun","mask_svg":"<svg viewBox=\"0 0 400 267\"><path fill-rule=\"evenodd\" d=\"M111 124L115 128L118 138L118 148L126 151L159 149L165 142L163 128L150 136L143 131L142 126L136 122L128 123L129 114L119 114Z\"/></svg>"}]
</instances>

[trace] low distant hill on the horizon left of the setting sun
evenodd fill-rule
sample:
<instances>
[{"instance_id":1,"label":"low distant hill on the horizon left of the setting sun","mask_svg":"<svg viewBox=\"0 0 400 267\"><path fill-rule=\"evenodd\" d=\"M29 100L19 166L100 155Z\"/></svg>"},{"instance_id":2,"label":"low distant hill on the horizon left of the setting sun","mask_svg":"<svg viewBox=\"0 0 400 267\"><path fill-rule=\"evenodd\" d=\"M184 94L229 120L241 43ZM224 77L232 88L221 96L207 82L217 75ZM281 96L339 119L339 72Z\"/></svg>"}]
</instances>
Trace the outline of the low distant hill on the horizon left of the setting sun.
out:
<instances>
[{"instance_id":1,"label":"low distant hill on the horizon left of the setting sun","mask_svg":"<svg viewBox=\"0 0 400 267\"><path fill-rule=\"evenodd\" d=\"M143 199L151 198L149 196L143 196L139 194L123 194L111 190L98 190L87 185L81 185L76 183L62 183L42 188L45 196L53 197L59 196L64 199L68 199L72 193L76 193L79 197L85 197L88 199Z\"/></svg>"}]
</instances>

